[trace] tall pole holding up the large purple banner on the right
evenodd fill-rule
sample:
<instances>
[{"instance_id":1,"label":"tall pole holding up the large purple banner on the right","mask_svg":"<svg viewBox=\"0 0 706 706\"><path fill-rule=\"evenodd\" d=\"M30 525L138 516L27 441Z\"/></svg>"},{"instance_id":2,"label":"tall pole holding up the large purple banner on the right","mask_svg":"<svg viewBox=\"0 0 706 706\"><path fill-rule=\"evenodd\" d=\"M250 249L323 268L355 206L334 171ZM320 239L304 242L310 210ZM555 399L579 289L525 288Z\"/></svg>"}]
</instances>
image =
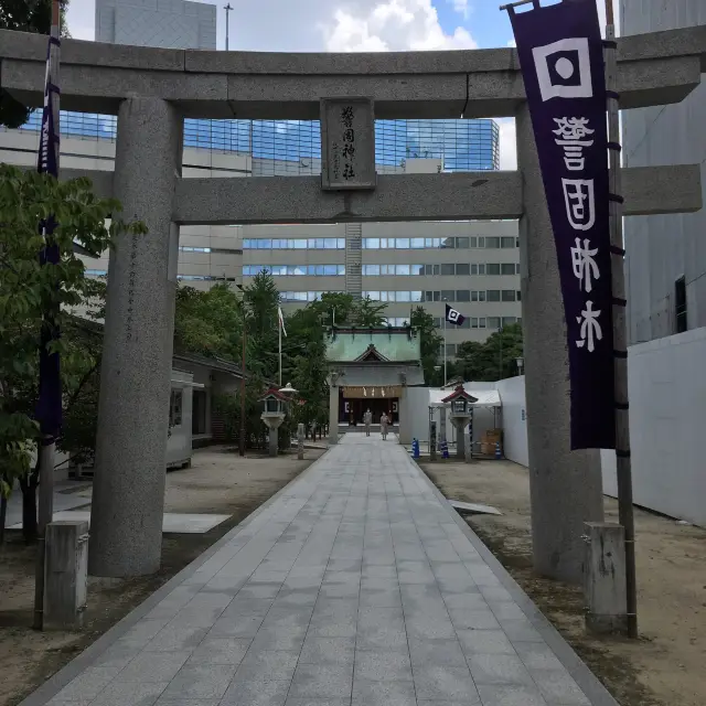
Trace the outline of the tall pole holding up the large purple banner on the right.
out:
<instances>
[{"instance_id":1,"label":"tall pole holding up the large purple banner on the right","mask_svg":"<svg viewBox=\"0 0 706 706\"><path fill-rule=\"evenodd\" d=\"M632 504L632 463L630 460L630 415L628 404L628 336L625 330L625 274L622 237L620 174L620 120L617 86L617 43L612 0L606 0L606 88L608 90L608 142L610 154L611 277L613 292L613 349L616 351L616 466L618 470L618 511L625 533L625 590L628 634L638 637L638 589L635 577L635 527Z\"/></svg>"}]
</instances>

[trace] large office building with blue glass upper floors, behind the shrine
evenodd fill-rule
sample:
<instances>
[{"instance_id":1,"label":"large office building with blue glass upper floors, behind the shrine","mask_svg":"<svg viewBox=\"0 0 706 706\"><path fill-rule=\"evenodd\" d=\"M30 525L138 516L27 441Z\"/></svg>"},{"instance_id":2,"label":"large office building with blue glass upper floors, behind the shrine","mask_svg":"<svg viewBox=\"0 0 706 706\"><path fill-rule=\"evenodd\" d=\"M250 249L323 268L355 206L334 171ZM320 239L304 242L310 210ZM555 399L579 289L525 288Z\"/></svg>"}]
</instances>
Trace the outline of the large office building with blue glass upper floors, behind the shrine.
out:
<instances>
[{"instance_id":1,"label":"large office building with blue glass upper floors, behind the shrine","mask_svg":"<svg viewBox=\"0 0 706 706\"><path fill-rule=\"evenodd\" d=\"M162 47L215 49L215 7L184 0L97 0L96 38ZM0 132L0 159L35 161L40 114L20 130ZM62 113L62 165L114 168L115 116ZM499 168L493 120L378 120L378 173L453 172ZM317 121L184 121L183 175L256 178L321 173ZM346 238L362 238L361 276L346 276ZM483 340L521 315L517 225L371 223L285 226L182 226L179 278L192 287L239 282L266 268L287 308L325 291L350 291L386 304L391 323L422 304L442 327L445 302L467 317L449 327L447 353ZM90 275L108 269L107 253L86 260ZM352 269L352 268L351 268Z\"/></svg>"}]
</instances>

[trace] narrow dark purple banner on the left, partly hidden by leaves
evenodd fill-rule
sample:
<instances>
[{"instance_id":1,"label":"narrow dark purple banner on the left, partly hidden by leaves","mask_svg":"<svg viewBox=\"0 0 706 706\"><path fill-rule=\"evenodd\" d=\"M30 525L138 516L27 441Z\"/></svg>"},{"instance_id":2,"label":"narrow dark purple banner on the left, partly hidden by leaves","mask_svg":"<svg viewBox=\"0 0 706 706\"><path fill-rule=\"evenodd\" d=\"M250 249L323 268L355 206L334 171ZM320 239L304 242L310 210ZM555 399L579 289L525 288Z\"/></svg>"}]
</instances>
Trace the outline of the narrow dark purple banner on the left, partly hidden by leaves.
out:
<instances>
[{"instance_id":1,"label":"narrow dark purple banner on the left, partly hidden by leaves","mask_svg":"<svg viewBox=\"0 0 706 706\"><path fill-rule=\"evenodd\" d=\"M44 109L42 111L42 132L40 136L40 149L38 158L38 171L40 174L46 173L58 178L58 135L55 125L58 116L54 116L52 97L58 93L58 87L52 82L50 72L50 55L52 45L61 46L60 40L50 36L49 49L46 51L46 75L44 81ZM56 265L60 261L58 246L53 242L52 234L56 223L53 216L40 223L40 231L44 236L44 247L40 252L40 265ZM56 304L45 303L44 321L42 322L40 342L40 388L36 403L36 420L40 430L45 437L45 441L53 441L62 426L62 381L61 362L58 353L50 353L47 346L52 341L60 339L61 332L55 319Z\"/></svg>"}]
</instances>

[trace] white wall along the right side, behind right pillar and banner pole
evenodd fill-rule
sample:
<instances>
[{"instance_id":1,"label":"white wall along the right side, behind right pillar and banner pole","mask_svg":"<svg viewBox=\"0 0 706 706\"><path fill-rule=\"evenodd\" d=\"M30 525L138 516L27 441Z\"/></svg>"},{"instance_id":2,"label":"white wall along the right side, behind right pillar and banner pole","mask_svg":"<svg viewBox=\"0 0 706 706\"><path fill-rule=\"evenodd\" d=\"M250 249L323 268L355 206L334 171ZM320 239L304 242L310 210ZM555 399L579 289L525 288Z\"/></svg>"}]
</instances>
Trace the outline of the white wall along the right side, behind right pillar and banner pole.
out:
<instances>
[{"instance_id":1,"label":"white wall along the right side, behind right pillar and banner pole","mask_svg":"<svg viewBox=\"0 0 706 706\"><path fill-rule=\"evenodd\" d=\"M632 484L638 505L706 526L706 328L629 349ZM500 381L505 456L528 466L524 377ZM616 454L601 451L603 492L616 496Z\"/></svg>"}]
</instances>

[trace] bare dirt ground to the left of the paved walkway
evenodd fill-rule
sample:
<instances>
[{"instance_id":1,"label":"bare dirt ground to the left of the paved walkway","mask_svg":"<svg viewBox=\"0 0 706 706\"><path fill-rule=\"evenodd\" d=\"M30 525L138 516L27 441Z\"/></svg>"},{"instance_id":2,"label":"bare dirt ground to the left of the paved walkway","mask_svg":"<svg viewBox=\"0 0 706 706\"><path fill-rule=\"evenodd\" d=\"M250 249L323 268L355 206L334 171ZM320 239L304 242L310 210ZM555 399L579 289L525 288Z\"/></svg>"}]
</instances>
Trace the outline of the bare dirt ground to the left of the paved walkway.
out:
<instances>
[{"instance_id":1,"label":"bare dirt ground to the left of the paved walkway","mask_svg":"<svg viewBox=\"0 0 706 706\"><path fill-rule=\"evenodd\" d=\"M322 453L307 450L307 459L298 461L296 454L240 459L223 449L194 452L190 469L167 475L165 512L232 516L205 534L164 535L162 566L153 576L89 579L83 632L42 633L29 628L35 549L22 543L19 532L8 531L0 550L0 706L18 704ZM89 489L77 485L82 495L90 496Z\"/></svg>"}]
</instances>

